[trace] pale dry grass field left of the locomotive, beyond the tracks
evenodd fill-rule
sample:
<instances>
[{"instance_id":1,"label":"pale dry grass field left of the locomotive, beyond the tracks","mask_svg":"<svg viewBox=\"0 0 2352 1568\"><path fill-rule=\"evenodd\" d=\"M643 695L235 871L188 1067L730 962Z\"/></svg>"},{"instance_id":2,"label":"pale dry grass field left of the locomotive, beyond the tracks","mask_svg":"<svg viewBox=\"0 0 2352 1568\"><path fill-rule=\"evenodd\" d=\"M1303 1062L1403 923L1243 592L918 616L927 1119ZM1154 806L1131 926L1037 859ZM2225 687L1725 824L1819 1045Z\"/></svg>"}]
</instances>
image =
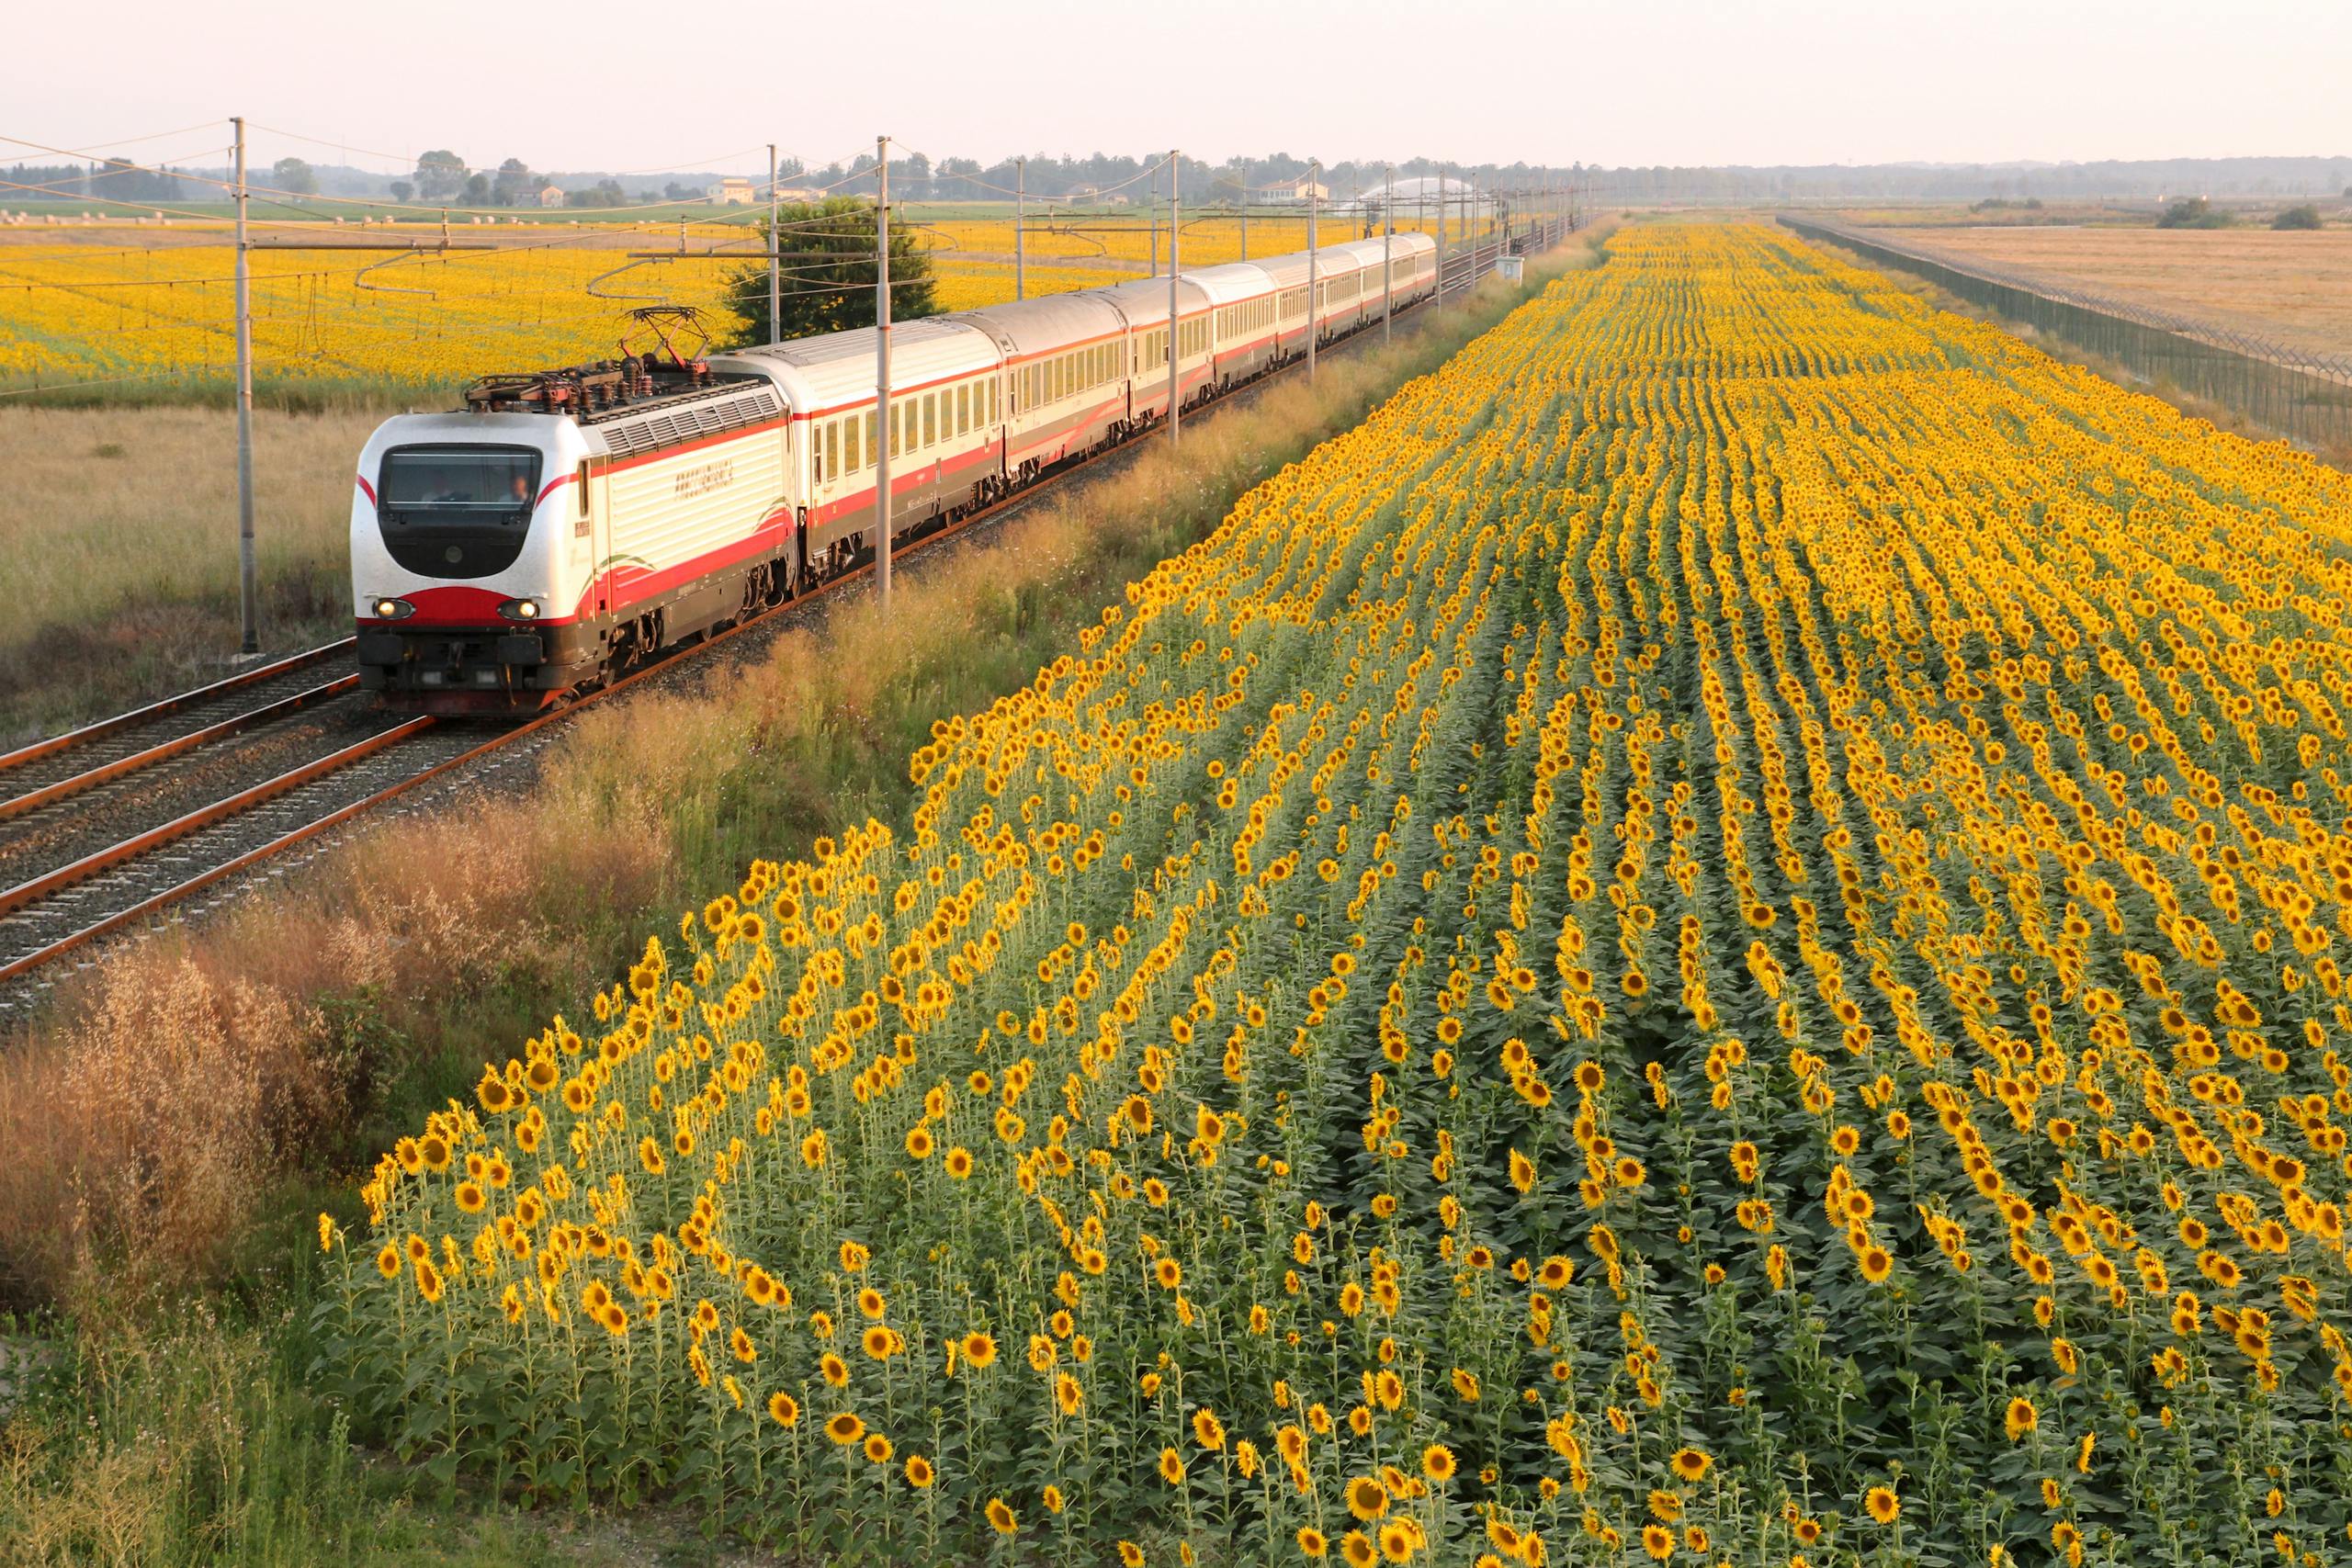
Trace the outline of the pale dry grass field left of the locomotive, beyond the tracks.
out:
<instances>
[{"instance_id":1,"label":"pale dry grass field left of the locomotive, beyond the tracks","mask_svg":"<svg viewBox=\"0 0 2352 1568\"><path fill-rule=\"evenodd\" d=\"M381 411L259 411L261 637L350 621L350 465ZM238 421L0 404L0 748L165 696L238 649Z\"/></svg>"}]
</instances>

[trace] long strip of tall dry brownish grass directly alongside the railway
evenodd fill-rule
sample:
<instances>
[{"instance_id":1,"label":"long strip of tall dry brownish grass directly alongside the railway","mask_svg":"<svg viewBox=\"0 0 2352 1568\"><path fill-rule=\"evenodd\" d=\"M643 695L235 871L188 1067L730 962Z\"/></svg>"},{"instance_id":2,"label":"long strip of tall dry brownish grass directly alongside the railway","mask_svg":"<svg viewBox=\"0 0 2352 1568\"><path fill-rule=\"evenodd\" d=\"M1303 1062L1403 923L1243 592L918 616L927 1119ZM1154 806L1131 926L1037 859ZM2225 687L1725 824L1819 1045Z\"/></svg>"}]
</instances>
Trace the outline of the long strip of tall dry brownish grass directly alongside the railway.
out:
<instances>
[{"instance_id":1,"label":"long strip of tall dry brownish grass directly alongside the railway","mask_svg":"<svg viewBox=\"0 0 2352 1568\"><path fill-rule=\"evenodd\" d=\"M381 1147L400 1093L461 1091L626 961L659 905L814 832L903 820L934 719L1030 679L1120 583L1515 299L1489 284L1315 388L1190 423L1181 458L1155 444L978 548L910 557L889 618L854 595L701 693L581 715L524 797L388 820L115 950L0 1041L0 1298L207 1279L289 1173Z\"/></svg>"}]
</instances>

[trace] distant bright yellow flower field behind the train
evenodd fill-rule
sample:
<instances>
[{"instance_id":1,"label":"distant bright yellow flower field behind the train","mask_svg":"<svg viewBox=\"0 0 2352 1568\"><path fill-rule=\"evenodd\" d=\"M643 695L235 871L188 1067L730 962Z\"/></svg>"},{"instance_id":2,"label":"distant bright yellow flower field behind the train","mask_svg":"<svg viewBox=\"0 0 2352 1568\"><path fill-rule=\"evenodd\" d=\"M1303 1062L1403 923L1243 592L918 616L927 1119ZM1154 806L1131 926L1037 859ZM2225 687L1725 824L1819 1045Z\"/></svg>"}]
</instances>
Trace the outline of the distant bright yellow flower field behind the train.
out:
<instances>
[{"instance_id":1,"label":"distant bright yellow flower field behind the train","mask_svg":"<svg viewBox=\"0 0 2352 1568\"><path fill-rule=\"evenodd\" d=\"M1411 216L1399 221L1399 230L1414 226ZM1011 221L915 219L913 230L931 256L941 310L1014 299ZM1458 230L1456 223L1454 242ZM103 233L122 242L0 240L0 395L111 383L226 386L235 374L235 249L226 228ZM294 230L292 242L360 244L369 233L310 226ZM475 228L459 230L459 240L482 242L485 233L496 249L334 256L256 247L254 369L263 390L445 397L485 369L616 355L630 331L628 310L644 303L706 310L720 339L741 327L727 282L741 261L724 252L722 261L644 252L743 247L743 223L699 223L687 233L675 223ZM416 242L430 237L423 230ZM1327 221L1319 237L1352 240L1359 226ZM1240 240L1232 219L1192 219L1183 230L1183 266L1235 261ZM1030 296L1145 277L1152 256L1167 266L1167 235L1155 240L1141 214L1035 219L1023 244ZM1251 223L1251 256L1303 247L1303 216L1261 214Z\"/></svg>"}]
</instances>

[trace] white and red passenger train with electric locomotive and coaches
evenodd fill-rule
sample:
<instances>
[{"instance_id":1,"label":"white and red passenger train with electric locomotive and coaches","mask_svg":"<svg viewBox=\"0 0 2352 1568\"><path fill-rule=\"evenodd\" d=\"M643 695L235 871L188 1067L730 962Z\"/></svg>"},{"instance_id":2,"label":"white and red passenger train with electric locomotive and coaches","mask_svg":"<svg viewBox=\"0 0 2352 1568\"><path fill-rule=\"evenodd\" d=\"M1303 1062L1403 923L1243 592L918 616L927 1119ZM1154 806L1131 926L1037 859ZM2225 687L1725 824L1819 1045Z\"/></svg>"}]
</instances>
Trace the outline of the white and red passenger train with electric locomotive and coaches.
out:
<instances>
[{"instance_id":1,"label":"white and red passenger train with electric locomotive and coaches","mask_svg":"<svg viewBox=\"0 0 2352 1568\"><path fill-rule=\"evenodd\" d=\"M1383 256L1388 277L1383 280ZM1308 301L1312 270L1315 301ZM1437 292L1421 233L706 353L485 376L367 440L355 651L379 705L503 715L783 604ZM889 449L889 520L877 458Z\"/></svg>"}]
</instances>

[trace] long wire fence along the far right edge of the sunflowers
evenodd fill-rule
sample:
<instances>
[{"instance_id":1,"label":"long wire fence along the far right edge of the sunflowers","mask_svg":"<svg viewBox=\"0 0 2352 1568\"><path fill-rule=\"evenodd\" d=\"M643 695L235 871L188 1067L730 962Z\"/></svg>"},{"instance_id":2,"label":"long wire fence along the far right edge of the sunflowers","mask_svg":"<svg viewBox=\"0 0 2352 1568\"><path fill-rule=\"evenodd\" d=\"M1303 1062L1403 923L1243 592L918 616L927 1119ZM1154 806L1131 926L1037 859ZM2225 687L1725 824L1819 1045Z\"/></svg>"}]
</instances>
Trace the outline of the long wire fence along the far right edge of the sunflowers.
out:
<instances>
[{"instance_id":1,"label":"long wire fence along the far right edge of the sunflowers","mask_svg":"<svg viewBox=\"0 0 2352 1568\"><path fill-rule=\"evenodd\" d=\"M2352 355L2296 348L1849 223L1788 212L1780 223L1898 266L2009 320L2030 322L2136 376L2218 402L2265 430L2310 447L2352 447Z\"/></svg>"}]
</instances>

